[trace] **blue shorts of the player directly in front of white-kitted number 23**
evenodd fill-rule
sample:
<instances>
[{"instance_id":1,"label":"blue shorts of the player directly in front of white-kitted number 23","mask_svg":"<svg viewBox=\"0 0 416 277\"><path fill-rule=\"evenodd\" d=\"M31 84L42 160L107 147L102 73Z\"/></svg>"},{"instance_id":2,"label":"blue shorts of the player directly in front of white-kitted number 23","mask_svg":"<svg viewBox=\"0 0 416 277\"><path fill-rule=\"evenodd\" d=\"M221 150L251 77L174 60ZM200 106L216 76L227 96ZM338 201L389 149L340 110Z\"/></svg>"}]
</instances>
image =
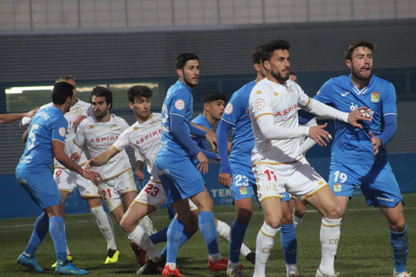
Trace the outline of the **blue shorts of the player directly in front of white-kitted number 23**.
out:
<instances>
[{"instance_id":1,"label":"blue shorts of the player directly in front of white-kitted number 23","mask_svg":"<svg viewBox=\"0 0 416 277\"><path fill-rule=\"evenodd\" d=\"M155 167L166 193L166 203L186 199L205 189L204 180L189 157L158 156Z\"/></svg>"}]
</instances>

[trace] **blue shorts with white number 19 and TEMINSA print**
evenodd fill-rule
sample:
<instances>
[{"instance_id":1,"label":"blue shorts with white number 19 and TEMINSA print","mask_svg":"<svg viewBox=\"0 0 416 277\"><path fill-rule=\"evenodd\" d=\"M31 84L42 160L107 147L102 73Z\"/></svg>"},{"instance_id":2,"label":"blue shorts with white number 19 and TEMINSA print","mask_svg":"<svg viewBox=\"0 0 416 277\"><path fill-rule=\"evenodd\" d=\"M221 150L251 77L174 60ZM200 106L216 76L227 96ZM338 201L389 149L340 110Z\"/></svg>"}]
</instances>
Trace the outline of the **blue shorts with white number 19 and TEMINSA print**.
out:
<instances>
[{"instance_id":1,"label":"blue shorts with white number 19 and TEMINSA print","mask_svg":"<svg viewBox=\"0 0 416 277\"><path fill-rule=\"evenodd\" d=\"M328 184L336 196L350 198L355 187L360 186L368 206L392 208L399 201L404 204L389 163L376 166L331 162Z\"/></svg>"}]
</instances>

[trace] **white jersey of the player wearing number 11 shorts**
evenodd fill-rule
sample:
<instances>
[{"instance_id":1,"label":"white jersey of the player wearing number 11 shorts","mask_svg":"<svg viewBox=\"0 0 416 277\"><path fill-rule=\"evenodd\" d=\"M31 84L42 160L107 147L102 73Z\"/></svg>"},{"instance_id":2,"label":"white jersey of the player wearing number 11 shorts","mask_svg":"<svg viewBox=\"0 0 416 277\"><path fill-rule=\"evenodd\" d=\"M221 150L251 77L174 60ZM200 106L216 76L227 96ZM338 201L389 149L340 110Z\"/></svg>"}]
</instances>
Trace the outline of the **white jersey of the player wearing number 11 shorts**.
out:
<instances>
[{"instance_id":1,"label":"white jersey of the player wearing number 11 shorts","mask_svg":"<svg viewBox=\"0 0 416 277\"><path fill-rule=\"evenodd\" d=\"M284 85L264 78L252 89L249 98L251 126L255 145L251 162L255 164L287 164L301 159L297 139L267 140L256 119L273 115L274 124L287 128L298 127L297 109L307 106L309 96L295 82L287 80Z\"/></svg>"}]
</instances>

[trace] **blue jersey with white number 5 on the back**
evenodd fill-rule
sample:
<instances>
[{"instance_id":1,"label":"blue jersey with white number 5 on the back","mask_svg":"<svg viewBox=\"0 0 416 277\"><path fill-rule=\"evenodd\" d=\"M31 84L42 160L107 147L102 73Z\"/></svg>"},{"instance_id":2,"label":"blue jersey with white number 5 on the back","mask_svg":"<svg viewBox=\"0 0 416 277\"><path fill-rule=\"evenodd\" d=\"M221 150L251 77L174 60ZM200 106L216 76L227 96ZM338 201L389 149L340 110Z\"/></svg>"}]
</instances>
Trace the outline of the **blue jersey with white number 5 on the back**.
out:
<instances>
[{"instance_id":1,"label":"blue jersey with white number 5 on the back","mask_svg":"<svg viewBox=\"0 0 416 277\"><path fill-rule=\"evenodd\" d=\"M53 106L38 111L32 119L25 152L17 169L32 172L49 170L54 158L52 140L65 143L68 121L62 111Z\"/></svg>"}]
</instances>

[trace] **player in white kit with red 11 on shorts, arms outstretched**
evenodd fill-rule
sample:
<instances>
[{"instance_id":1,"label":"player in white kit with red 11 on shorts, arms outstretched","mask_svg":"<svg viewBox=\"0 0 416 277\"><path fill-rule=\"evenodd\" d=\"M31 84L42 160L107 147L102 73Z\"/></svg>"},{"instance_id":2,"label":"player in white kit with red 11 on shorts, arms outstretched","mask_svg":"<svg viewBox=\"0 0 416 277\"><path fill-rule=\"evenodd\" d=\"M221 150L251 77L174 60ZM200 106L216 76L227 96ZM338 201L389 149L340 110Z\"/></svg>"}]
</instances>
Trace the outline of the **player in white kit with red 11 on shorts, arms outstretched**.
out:
<instances>
[{"instance_id":1,"label":"player in white kit with red 11 on shorts, arms outstretched","mask_svg":"<svg viewBox=\"0 0 416 277\"><path fill-rule=\"evenodd\" d=\"M326 181L314 171L299 151L298 137L311 137L319 145L329 142L326 125L298 127L298 105L305 110L362 127L357 120L371 120L360 107L343 113L310 99L289 79L290 44L281 39L265 45L262 53L266 78L252 89L249 98L250 119L255 146L252 155L258 198L265 217L256 240L253 276L264 277L265 266L282 220L281 194L287 191L310 203L322 214L320 240L322 259L318 271L335 277L334 256L339 242L341 212L339 203ZM370 115L368 115L370 117ZM318 275L317 275L318 276Z\"/></svg>"}]
</instances>

